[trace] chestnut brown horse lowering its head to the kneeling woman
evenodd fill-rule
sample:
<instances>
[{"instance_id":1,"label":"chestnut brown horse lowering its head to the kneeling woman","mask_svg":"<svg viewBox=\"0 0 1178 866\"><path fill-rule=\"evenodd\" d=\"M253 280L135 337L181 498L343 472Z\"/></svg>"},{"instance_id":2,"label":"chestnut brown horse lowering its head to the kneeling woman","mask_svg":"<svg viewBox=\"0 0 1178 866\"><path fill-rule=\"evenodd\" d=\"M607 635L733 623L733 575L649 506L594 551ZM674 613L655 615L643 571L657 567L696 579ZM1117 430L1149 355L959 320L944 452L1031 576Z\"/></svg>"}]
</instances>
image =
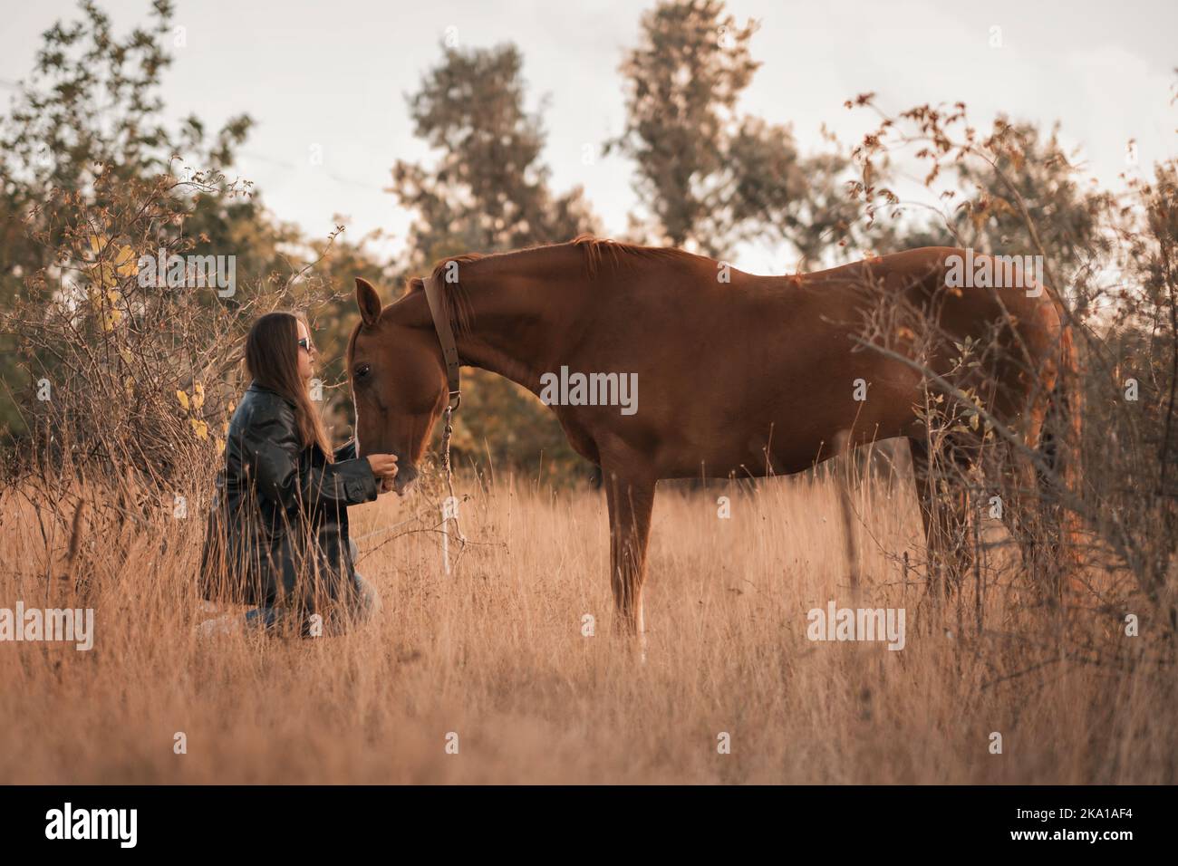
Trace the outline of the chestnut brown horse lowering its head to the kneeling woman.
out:
<instances>
[{"instance_id":1,"label":"chestnut brown horse lowering its head to the kneeling woman","mask_svg":"<svg viewBox=\"0 0 1178 866\"><path fill-rule=\"evenodd\" d=\"M573 448L601 467L618 624L641 634L661 478L788 475L834 456L832 443L853 448L888 437L912 442L919 475L929 437L918 409L931 381L973 398L979 417L1007 438L1014 431L1019 443L1005 444L1040 444L1048 397L1058 394L1061 371L1073 368L1058 300L1038 283L946 285L954 256L979 267L994 263L928 247L763 277L677 249L582 236L439 262L430 277L442 287L430 292L441 306L437 328L421 278L384 308L357 279L360 322L348 369L358 451L396 454L395 489L404 493L452 402L439 337L452 328L451 383L461 363L543 395ZM922 348L912 313L935 332ZM969 368L957 357L966 338L1005 351L979 350L980 366ZM948 382L962 368L972 370L972 384L968 377ZM590 394L567 386L576 373L596 375ZM626 382L638 388L629 405L618 405L614 385ZM1074 412L1068 417L1074 422ZM977 435L973 424L958 427L965 436L954 436L980 443L984 425ZM1034 483L1030 465L1024 462L1020 477ZM921 505L932 541L934 503L926 496Z\"/></svg>"}]
</instances>

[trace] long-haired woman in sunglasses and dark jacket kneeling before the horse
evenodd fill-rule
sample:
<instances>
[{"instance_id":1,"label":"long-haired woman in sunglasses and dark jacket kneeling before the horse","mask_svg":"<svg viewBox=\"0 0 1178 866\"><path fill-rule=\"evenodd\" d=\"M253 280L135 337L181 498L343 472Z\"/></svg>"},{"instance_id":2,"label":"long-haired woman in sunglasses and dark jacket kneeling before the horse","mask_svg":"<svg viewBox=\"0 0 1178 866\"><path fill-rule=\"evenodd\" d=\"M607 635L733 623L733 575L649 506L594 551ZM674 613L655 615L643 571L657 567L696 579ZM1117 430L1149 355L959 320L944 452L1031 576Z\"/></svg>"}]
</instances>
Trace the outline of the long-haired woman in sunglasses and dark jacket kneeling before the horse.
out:
<instances>
[{"instance_id":1,"label":"long-haired woman in sunglasses and dark jacket kneeling before the horse","mask_svg":"<svg viewBox=\"0 0 1178 866\"><path fill-rule=\"evenodd\" d=\"M230 421L225 465L200 561L210 601L254 604L201 633L240 626L303 635L333 634L369 619L376 590L356 573L348 505L392 489L397 458L332 452L307 390L317 356L302 315L271 312L250 329L245 364L253 379Z\"/></svg>"}]
</instances>

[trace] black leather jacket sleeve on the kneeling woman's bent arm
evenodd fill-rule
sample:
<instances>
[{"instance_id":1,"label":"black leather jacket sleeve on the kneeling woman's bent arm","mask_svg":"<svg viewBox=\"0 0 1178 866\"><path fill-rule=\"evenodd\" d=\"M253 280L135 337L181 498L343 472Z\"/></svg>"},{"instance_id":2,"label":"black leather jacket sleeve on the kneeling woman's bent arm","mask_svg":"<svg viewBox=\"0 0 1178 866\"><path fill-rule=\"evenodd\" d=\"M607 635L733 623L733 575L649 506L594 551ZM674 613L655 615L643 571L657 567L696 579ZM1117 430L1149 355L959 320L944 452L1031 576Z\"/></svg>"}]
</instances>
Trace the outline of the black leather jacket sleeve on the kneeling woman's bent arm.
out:
<instances>
[{"instance_id":1,"label":"black leather jacket sleeve on the kneeling woman's bent arm","mask_svg":"<svg viewBox=\"0 0 1178 866\"><path fill-rule=\"evenodd\" d=\"M358 505L377 497L376 476L368 460L345 460L298 471L303 447L294 410L274 401L251 419L241 442L258 493L287 511L315 505ZM353 449L355 454L355 449Z\"/></svg>"}]
</instances>

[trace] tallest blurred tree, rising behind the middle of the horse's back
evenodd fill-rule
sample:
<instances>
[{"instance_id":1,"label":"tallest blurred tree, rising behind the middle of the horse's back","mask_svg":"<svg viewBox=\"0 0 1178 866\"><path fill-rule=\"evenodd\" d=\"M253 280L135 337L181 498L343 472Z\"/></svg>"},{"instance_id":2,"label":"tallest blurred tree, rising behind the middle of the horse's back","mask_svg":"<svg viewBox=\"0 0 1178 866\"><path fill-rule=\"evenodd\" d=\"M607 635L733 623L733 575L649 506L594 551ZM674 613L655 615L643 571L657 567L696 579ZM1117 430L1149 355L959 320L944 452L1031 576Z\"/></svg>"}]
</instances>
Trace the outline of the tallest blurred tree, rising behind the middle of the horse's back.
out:
<instances>
[{"instance_id":1,"label":"tallest blurred tree, rising behind the middle of the horse's back","mask_svg":"<svg viewBox=\"0 0 1178 866\"><path fill-rule=\"evenodd\" d=\"M858 211L841 189L849 160L799 152L788 126L739 115L761 64L755 21L737 27L722 0L661 2L642 19L622 64L627 123L605 144L637 164L635 191L651 243L721 258L736 243L786 243L801 266L855 238Z\"/></svg>"}]
</instances>

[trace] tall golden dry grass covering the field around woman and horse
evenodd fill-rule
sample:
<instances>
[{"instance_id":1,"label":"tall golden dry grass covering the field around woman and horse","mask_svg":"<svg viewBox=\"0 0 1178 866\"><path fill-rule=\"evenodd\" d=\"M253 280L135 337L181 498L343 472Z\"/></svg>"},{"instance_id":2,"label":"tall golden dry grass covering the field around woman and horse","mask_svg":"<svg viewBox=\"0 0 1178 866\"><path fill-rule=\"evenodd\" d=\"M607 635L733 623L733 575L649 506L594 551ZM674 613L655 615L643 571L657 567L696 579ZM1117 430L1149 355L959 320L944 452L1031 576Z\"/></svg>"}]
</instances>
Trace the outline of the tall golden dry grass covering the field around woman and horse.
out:
<instances>
[{"instance_id":1,"label":"tall golden dry grass covering the field around woman and horse","mask_svg":"<svg viewBox=\"0 0 1178 866\"><path fill-rule=\"evenodd\" d=\"M1107 616L1058 621L1000 543L979 633L975 586L945 602L925 589L911 481L853 496L858 604L904 607L905 648L807 640L807 610L856 604L836 477L661 488L644 663L611 634L594 490L459 483L470 544L452 575L436 533L380 531L425 494L384 496L352 510L377 621L342 637L211 642L193 630L209 615L199 517L86 536L99 564L79 595L59 576L46 589L38 521L9 490L0 606L92 604L97 637L91 652L0 643L0 781L1176 781L1173 675L1145 660L1147 636L1125 639ZM67 544L51 538L51 562ZM1136 666L1113 657L1126 640Z\"/></svg>"}]
</instances>

